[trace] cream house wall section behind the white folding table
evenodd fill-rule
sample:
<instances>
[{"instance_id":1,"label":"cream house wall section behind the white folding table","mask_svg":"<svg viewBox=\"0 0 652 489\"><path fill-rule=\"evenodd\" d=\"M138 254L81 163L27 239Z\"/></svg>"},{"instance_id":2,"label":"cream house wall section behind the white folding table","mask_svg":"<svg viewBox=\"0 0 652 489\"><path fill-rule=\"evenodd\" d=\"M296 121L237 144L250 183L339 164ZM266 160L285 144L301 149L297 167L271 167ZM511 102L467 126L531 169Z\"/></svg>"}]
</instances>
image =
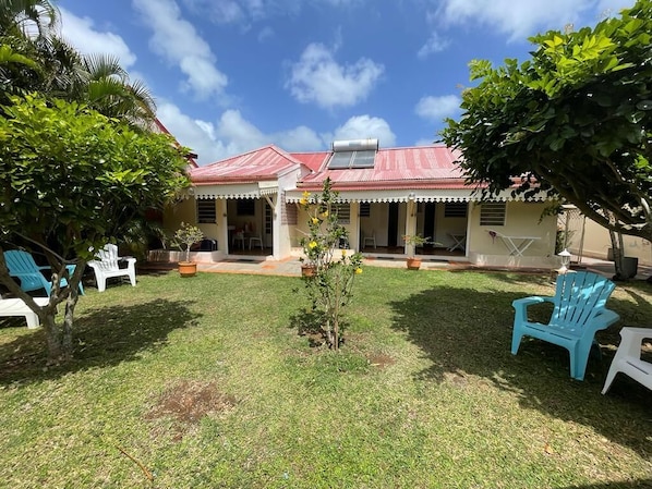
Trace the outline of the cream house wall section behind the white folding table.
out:
<instances>
[{"instance_id":1,"label":"cream house wall section behind the white folding table","mask_svg":"<svg viewBox=\"0 0 652 489\"><path fill-rule=\"evenodd\" d=\"M480 266L558 268L560 259L555 255L557 220L553 216L541 219L546 203L507 203L505 225L480 225L480 205L469 209L468 256L471 262ZM508 236L540 236L523 253L511 256L499 237L492 237L494 230Z\"/></svg>"}]
</instances>

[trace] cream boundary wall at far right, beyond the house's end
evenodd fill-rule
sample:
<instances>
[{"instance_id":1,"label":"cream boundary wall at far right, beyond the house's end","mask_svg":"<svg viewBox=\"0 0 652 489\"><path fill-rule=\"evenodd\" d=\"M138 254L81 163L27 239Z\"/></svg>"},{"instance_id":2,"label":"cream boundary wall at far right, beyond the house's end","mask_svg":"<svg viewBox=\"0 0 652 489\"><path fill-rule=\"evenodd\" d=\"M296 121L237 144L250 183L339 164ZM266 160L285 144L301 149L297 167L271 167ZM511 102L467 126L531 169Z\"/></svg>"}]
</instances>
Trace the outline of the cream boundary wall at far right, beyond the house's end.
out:
<instances>
[{"instance_id":1,"label":"cream boundary wall at far right, beyond the house's end","mask_svg":"<svg viewBox=\"0 0 652 489\"><path fill-rule=\"evenodd\" d=\"M568 250L576 257L581 255L590 258L611 259L612 241L605 228L590 219L573 219L570 221L568 230ZM638 258L641 265L652 265L652 245L648 240L624 234L623 244L625 256Z\"/></svg>"}]
</instances>

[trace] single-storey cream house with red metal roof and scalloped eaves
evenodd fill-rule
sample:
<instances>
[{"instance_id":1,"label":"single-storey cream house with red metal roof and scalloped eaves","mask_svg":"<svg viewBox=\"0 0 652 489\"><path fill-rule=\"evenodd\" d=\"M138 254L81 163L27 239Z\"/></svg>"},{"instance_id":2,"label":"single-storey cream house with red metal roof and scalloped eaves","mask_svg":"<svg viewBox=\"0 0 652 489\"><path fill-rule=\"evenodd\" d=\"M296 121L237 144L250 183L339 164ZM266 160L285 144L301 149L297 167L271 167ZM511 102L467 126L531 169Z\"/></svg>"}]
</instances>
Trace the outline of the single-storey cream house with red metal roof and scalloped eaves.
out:
<instances>
[{"instance_id":1,"label":"single-storey cream house with red metal roof and scalloped eaves","mask_svg":"<svg viewBox=\"0 0 652 489\"><path fill-rule=\"evenodd\" d=\"M301 255L307 217L304 192L329 178L339 193L338 216L349 231L342 247L367 257L405 258L405 234L436 242L423 259L479 266L555 268L557 224L543 211L546 197L505 191L481 203L445 146L381 148L377 139L335 142L327 151L288 152L274 145L190 169L188 198L164 215L166 229L194 222L217 242L195 259L232 255L281 260ZM171 257L171 260L174 258Z\"/></svg>"}]
</instances>

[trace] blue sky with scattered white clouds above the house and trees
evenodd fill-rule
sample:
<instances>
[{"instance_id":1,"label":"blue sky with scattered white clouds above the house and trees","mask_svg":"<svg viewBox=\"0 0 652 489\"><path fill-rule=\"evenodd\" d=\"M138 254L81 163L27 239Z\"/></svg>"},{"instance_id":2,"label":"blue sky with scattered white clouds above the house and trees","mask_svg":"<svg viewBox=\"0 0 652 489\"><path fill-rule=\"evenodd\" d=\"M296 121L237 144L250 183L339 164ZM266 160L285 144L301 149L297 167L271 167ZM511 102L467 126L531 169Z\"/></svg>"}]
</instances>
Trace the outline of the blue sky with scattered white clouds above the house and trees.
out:
<instances>
[{"instance_id":1,"label":"blue sky with scattered white clouds above the house and trees","mask_svg":"<svg viewBox=\"0 0 652 489\"><path fill-rule=\"evenodd\" d=\"M59 0L61 34L111 53L200 164L268 144L431 144L459 117L468 63L635 0Z\"/></svg>"}]
</instances>

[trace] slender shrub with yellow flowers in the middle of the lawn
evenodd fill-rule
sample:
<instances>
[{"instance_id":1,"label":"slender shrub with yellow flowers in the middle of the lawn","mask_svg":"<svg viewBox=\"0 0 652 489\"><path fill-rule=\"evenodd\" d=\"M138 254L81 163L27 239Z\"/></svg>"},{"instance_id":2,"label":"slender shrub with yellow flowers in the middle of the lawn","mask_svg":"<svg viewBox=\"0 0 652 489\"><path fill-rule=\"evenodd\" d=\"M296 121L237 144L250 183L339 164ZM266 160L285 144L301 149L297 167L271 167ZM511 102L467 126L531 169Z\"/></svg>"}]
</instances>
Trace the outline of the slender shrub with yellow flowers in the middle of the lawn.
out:
<instances>
[{"instance_id":1,"label":"slender shrub with yellow flowers in the middle of the lawn","mask_svg":"<svg viewBox=\"0 0 652 489\"><path fill-rule=\"evenodd\" d=\"M300 205L306 210L309 234L301 240L302 261L314 267L314 274L304 277L313 311L321 319L321 328L328 346L338 350L342 341L342 309L351 301L353 278L362 273L362 255L341 249L348 241L347 229L338 221L337 192L330 179L324 181L321 194L304 193Z\"/></svg>"}]
</instances>

